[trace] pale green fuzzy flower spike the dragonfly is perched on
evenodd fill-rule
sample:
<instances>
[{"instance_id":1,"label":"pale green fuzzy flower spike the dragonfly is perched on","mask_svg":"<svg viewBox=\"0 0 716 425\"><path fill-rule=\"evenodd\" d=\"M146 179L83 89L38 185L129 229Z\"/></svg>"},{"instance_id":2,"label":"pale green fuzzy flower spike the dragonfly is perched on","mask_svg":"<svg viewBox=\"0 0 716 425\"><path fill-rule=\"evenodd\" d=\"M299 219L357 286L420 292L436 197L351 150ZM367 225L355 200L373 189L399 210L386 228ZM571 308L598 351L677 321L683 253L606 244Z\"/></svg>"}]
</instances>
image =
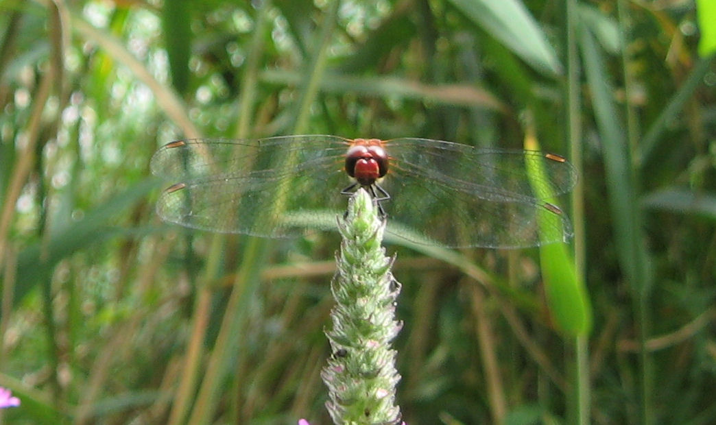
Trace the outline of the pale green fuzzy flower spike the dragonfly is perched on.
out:
<instances>
[{"instance_id":1,"label":"pale green fuzzy flower spike the dragonfly is perched on","mask_svg":"<svg viewBox=\"0 0 716 425\"><path fill-rule=\"evenodd\" d=\"M381 246L385 223L361 189L338 226L342 243L331 283L336 306L333 329L326 331L333 354L321 373L329 389L326 408L335 424L397 424L400 375L390 341L402 328L395 320L400 283L390 273L394 258Z\"/></svg>"}]
</instances>

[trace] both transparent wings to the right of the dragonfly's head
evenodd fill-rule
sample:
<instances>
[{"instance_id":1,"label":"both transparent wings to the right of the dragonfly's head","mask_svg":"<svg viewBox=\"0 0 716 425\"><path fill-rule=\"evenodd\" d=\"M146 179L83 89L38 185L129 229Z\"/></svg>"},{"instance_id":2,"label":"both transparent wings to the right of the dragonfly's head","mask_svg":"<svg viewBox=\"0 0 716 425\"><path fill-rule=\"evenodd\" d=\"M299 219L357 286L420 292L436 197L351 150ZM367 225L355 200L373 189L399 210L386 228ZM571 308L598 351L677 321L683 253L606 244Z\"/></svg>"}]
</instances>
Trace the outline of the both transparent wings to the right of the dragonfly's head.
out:
<instances>
[{"instance_id":1,"label":"both transparent wings to the right of the dragonfly's head","mask_svg":"<svg viewBox=\"0 0 716 425\"><path fill-rule=\"evenodd\" d=\"M422 139L390 140L385 146L392 168L381 185L391 199L383 207L393 233L418 243L485 248L571 237L569 219L550 203L576 183L574 167L561 157ZM542 167L546 178L531 182L530 163ZM395 222L412 235L391 228Z\"/></svg>"}]
</instances>

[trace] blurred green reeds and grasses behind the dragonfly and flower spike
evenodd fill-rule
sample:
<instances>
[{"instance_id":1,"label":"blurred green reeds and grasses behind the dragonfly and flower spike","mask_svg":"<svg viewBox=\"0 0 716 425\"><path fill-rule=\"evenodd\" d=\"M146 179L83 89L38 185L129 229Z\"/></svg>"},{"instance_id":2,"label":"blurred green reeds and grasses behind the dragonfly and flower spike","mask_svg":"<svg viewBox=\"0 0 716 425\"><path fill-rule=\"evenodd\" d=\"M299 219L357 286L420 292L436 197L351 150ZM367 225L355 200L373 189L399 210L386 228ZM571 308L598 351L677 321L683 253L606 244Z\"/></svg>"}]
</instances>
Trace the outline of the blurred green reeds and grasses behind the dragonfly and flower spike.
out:
<instances>
[{"instance_id":1,"label":"blurred green reeds and grasses behind the dragonfly and flower spike","mask_svg":"<svg viewBox=\"0 0 716 425\"><path fill-rule=\"evenodd\" d=\"M387 243L409 424L716 423L714 4L0 0L4 421L328 424L337 235L166 225L148 162L330 134L579 170L570 245Z\"/></svg>"}]
</instances>

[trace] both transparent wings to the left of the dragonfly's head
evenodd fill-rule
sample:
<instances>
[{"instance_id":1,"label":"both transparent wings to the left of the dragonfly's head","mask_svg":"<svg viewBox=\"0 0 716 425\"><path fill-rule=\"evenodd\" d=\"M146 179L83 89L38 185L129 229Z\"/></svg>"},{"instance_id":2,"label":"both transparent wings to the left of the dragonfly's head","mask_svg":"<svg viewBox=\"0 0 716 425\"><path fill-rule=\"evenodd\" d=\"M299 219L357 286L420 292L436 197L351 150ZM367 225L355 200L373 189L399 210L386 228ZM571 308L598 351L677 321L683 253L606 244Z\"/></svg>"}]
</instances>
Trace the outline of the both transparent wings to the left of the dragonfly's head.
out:
<instances>
[{"instance_id":1,"label":"both transparent wings to the left of the dragonfly's head","mask_svg":"<svg viewBox=\"0 0 716 425\"><path fill-rule=\"evenodd\" d=\"M345 210L348 145L333 136L171 142L151 162L153 174L175 182L160 195L157 212L189 228L294 235L306 222L335 220Z\"/></svg>"}]
</instances>

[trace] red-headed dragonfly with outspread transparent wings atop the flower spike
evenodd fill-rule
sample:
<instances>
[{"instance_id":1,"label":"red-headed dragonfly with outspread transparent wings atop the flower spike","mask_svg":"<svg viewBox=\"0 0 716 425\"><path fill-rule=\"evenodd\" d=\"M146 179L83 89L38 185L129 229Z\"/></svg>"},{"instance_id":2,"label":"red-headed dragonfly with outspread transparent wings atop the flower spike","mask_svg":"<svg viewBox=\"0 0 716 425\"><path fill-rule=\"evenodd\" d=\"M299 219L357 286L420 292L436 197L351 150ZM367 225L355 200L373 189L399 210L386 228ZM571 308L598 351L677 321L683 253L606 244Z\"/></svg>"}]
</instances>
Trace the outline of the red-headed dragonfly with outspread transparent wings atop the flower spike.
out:
<instances>
[{"instance_id":1,"label":"red-headed dragonfly with outspread transparent wings atop the flower spike","mask_svg":"<svg viewBox=\"0 0 716 425\"><path fill-rule=\"evenodd\" d=\"M420 138L190 139L160 147L151 170L173 182L160 218L199 230L289 238L337 229L347 194L364 188L387 233L412 243L526 248L572 235L551 200L574 187L576 170L540 151Z\"/></svg>"}]
</instances>

